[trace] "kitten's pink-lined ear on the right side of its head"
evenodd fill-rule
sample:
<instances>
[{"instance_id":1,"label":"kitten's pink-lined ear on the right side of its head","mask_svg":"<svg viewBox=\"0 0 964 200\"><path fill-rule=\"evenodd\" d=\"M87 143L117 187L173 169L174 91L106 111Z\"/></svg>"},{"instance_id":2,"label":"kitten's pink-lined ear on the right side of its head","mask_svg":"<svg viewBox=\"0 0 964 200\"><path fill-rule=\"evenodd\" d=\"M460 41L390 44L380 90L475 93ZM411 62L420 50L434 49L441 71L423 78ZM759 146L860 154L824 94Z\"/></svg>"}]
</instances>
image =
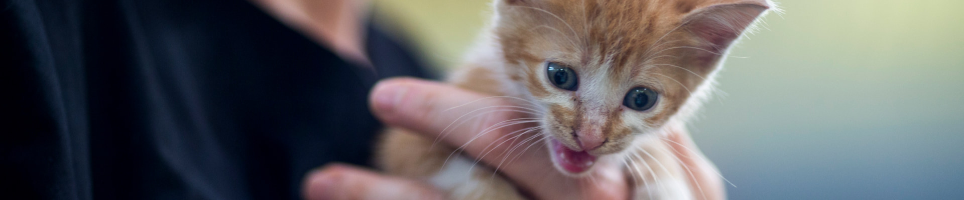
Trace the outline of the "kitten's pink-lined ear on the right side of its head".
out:
<instances>
[{"instance_id":1,"label":"kitten's pink-lined ear on the right side of its head","mask_svg":"<svg viewBox=\"0 0 964 200\"><path fill-rule=\"evenodd\" d=\"M701 41L702 48L719 55L772 7L766 0L716 4L689 13L683 27Z\"/></svg>"}]
</instances>

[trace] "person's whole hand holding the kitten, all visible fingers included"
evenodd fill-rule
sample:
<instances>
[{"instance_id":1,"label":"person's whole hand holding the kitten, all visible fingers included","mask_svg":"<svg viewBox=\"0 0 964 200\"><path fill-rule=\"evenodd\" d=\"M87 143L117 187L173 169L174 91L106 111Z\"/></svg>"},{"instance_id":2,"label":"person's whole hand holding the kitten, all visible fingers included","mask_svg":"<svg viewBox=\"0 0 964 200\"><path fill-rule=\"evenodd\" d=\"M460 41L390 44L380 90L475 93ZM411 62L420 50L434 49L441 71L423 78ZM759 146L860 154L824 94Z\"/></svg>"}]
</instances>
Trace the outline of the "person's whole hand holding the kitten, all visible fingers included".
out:
<instances>
[{"instance_id":1,"label":"person's whole hand holding the kitten, all visible fingers included","mask_svg":"<svg viewBox=\"0 0 964 200\"><path fill-rule=\"evenodd\" d=\"M516 128L496 129L494 132L476 136L480 128L488 128L498 122L524 117L520 112L492 112L476 125L455 127L440 137L442 131L462 114L494 106L514 105L510 101L495 99L466 104L487 95L436 82L411 78L390 79L380 82L372 91L372 112L388 126L405 128L423 137L441 138L449 146L464 146L465 154L489 165L498 165L499 172L515 183L524 193L536 199L629 199L626 174L618 166L600 165L596 176L569 177L558 172L549 161L544 148L532 148L521 152L515 162L503 163L503 157L513 146L491 145L501 142ZM463 106L464 105L464 106ZM461 106L461 107L460 107ZM458 107L458 108L456 108ZM456 109L452 109L456 108ZM452 109L452 111L447 111ZM520 125L523 126L523 125ZM692 146L685 133L671 136L679 145ZM469 142L470 141L470 142ZM677 152L692 154L682 146ZM695 149L694 147L687 147ZM520 152L513 152L520 153ZM701 155L680 155L683 164L694 171L694 179L705 186L710 199L722 199L722 185L707 170L713 170L709 162L694 159ZM710 185L712 184L712 185ZM712 187L719 185L719 187ZM719 188L719 189L714 189ZM423 183L396 177L379 175L363 169L332 165L308 175L304 186L306 198L316 199L438 199L442 193ZM699 196L699 195L694 195Z\"/></svg>"}]
</instances>

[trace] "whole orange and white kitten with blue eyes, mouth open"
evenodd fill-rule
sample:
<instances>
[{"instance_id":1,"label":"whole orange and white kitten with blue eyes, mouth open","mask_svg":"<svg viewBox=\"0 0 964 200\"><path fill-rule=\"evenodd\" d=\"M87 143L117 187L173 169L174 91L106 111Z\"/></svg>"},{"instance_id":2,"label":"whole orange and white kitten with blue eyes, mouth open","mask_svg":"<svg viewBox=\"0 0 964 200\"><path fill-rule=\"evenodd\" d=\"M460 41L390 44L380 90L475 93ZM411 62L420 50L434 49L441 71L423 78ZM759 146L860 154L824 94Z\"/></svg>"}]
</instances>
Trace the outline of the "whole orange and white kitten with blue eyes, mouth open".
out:
<instances>
[{"instance_id":1,"label":"whole orange and white kitten with blue eyes, mouth open","mask_svg":"<svg viewBox=\"0 0 964 200\"><path fill-rule=\"evenodd\" d=\"M663 138L683 130L712 90L731 44L769 0L495 0L492 24L450 83L524 100L559 172L625 167L634 199L702 199ZM523 133L531 134L531 133ZM522 199L489 167L433 138L388 129L377 163L390 174L443 180L453 199ZM698 152L693 154L701 156ZM701 158L702 159L702 158ZM444 164L443 164L444 163ZM481 174L481 176L479 176Z\"/></svg>"}]
</instances>

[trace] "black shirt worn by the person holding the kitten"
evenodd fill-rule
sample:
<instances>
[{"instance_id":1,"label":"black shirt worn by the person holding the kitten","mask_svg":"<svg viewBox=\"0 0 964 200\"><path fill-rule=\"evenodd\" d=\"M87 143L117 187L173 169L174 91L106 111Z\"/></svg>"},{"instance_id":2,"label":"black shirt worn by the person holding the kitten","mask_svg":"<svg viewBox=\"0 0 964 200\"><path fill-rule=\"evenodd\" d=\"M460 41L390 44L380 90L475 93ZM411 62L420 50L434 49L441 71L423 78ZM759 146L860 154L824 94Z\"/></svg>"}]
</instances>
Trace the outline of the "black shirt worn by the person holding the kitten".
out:
<instances>
[{"instance_id":1,"label":"black shirt worn by the person holding the kitten","mask_svg":"<svg viewBox=\"0 0 964 200\"><path fill-rule=\"evenodd\" d=\"M247 1L5 0L0 195L299 199L308 170L366 164L366 96L425 76L369 26L375 70Z\"/></svg>"}]
</instances>

